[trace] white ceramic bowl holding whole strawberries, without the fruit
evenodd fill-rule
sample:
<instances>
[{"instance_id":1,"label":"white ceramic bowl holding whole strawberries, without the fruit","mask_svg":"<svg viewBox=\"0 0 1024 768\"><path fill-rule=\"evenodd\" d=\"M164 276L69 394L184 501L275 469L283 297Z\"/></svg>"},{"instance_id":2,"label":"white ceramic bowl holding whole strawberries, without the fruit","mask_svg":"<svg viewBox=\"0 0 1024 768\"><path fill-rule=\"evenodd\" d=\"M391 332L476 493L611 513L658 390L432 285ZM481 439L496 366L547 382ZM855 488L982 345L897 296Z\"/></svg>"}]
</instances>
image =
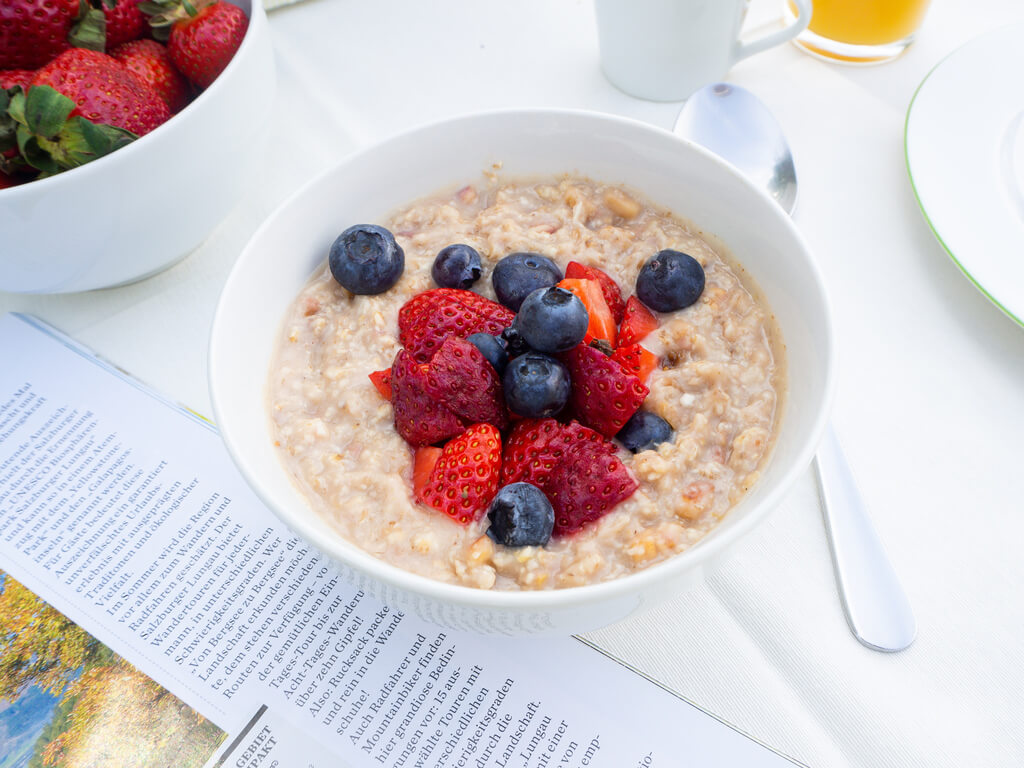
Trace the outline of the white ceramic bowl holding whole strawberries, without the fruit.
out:
<instances>
[{"instance_id":1,"label":"white ceramic bowl holding whole strawberries, without the fruit","mask_svg":"<svg viewBox=\"0 0 1024 768\"><path fill-rule=\"evenodd\" d=\"M105 158L0 189L0 291L68 293L131 283L196 248L251 183L273 105L261 3L220 76L164 125Z\"/></svg>"}]
</instances>

